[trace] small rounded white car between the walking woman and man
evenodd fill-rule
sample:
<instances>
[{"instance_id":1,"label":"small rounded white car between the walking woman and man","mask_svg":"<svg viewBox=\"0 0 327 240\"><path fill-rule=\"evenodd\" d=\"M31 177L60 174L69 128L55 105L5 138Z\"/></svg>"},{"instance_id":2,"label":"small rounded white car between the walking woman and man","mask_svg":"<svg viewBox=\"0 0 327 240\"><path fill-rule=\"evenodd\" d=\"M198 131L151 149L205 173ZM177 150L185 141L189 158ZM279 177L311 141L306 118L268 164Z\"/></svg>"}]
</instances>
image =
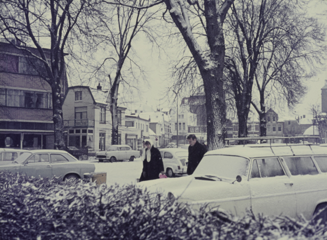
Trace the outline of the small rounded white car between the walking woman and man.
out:
<instances>
[{"instance_id":1,"label":"small rounded white car between the walking woman and man","mask_svg":"<svg viewBox=\"0 0 327 240\"><path fill-rule=\"evenodd\" d=\"M186 174L188 167L189 151L179 148L164 148L160 149L162 161L166 175L170 178L175 174Z\"/></svg>"}]
</instances>

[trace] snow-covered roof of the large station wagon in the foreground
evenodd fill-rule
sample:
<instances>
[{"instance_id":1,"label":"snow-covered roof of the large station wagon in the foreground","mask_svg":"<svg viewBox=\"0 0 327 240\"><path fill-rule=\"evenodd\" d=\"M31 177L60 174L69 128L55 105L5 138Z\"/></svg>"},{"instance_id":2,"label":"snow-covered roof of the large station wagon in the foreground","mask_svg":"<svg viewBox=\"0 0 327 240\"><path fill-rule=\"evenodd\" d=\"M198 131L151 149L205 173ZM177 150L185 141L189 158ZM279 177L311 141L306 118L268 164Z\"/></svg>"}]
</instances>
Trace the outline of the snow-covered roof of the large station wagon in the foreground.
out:
<instances>
[{"instance_id":1,"label":"snow-covered roof of the large station wagon in the foreground","mask_svg":"<svg viewBox=\"0 0 327 240\"><path fill-rule=\"evenodd\" d=\"M255 150L254 150L255 149ZM327 148L318 145L293 145L293 146L267 146L248 147L239 145L217 149L207 152L205 155L229 155L246 158L272 157L272 156L300 156L300 155L327 155Z\"/></svg>"}]
</instances>

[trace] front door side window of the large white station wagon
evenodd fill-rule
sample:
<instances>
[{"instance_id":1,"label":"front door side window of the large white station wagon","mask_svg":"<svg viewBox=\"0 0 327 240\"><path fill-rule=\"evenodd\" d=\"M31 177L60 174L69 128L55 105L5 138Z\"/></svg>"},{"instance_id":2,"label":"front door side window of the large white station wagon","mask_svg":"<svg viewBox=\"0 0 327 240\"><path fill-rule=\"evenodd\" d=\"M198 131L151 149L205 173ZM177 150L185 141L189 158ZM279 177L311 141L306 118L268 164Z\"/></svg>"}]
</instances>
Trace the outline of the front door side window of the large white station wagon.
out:
<instances>
[{"instance_id":1,"label":"front door side window of the large white station wagon","mask_svg":"<svg viewBox=\"0 0 327 240\"><path fill-rule=\"evenodd\" d=\"M254 159L251 178L284 176L285 173L278 158Z\"/></svg>"}]
</instances>

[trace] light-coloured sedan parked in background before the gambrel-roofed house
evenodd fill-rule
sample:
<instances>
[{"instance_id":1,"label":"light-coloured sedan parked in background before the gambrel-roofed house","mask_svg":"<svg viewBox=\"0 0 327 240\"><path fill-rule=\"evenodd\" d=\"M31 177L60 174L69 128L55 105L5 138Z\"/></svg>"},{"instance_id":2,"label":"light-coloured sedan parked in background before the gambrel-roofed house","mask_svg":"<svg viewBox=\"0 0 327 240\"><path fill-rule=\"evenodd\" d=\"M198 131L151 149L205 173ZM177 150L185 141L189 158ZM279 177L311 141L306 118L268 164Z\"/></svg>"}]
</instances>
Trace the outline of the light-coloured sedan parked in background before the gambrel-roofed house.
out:
<instances>
[{"instance_id":1,"label":"light-coloured sedan parked in background before the gambrel-roofed house","mask_svg":"<svg viewBox=\"0 0 327 240\"><path fill-rule=\"evenodd\" d=\"M126 159L129 159L129 161L134 161L134 159L138 157L140 157L139 151L132 150L128 145L111 145L107 151L100 151L96 153L96 159L98 159L99 162L115 162Z\"/></svg>"}]
</instances>

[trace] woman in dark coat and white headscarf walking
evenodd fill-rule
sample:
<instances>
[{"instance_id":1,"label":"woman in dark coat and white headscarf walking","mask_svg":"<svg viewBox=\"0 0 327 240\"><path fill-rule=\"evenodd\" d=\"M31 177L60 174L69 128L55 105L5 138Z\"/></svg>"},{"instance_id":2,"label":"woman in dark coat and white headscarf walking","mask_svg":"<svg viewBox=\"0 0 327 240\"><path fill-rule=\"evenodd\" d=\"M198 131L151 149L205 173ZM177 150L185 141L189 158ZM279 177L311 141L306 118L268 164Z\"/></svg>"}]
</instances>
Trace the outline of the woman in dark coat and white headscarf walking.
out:
<instances>
[{"instance_id":1,"label":"woman in dark coat and white headscarf walking","mask_svg":"<svg viewBox=\"0 0 327 240\"><path fill-rule=\"evenodd\" d=\"M155 148L150 139L145 142L145 156L143 160L143 181L159 179L159 174L165 174L164 163L160 151ZM141 179L140 179L141 181Z\"/></svg>"}]
</instances>

